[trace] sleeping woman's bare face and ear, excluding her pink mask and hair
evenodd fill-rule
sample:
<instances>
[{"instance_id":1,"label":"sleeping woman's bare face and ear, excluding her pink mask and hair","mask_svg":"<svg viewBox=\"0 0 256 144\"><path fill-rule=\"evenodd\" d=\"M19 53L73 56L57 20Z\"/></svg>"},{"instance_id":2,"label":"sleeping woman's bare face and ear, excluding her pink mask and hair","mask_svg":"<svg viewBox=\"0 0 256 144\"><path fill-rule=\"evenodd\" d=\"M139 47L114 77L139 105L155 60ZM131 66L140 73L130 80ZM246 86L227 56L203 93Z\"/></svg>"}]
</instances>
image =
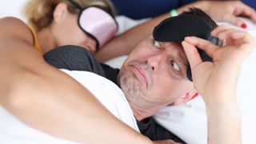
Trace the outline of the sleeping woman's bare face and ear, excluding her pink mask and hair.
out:
<instances>
[{"instance_id":1,"label":"sleeping woman's bare face and ear, excluding her pink mask and hair","mask_svg":"<svg viewBox=\"0 0 256 144\"><path fill-rule=\"evenodd\" d=\"M106 6L103 2L94 2L93 6ZM56 46L76 45L82 46L94 54L97 42L78 26L78 14L71 14L65 3L60 3L55 8L54 38Z\"/></svg>"}]
</instances>

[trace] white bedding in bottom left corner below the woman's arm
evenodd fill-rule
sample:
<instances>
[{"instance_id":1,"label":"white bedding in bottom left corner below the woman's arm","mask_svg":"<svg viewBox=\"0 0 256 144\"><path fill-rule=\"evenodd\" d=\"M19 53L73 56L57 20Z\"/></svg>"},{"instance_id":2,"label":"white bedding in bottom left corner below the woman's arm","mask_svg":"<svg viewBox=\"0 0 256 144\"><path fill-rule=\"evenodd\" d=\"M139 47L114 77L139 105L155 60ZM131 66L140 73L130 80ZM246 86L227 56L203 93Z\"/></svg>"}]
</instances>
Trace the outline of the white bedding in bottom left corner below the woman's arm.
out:
<instances>
[{"instance_id":1,"label":"white bedding in bottom left corner below the woman's arm","mask_svg":"<svg viewBox=\"0 0 256 144\"><path fill-rule=\"evenodd\" d=\"M0 106L0 143L1 144L75 144L60 138L54 138L49 134L42 133L26 126L18 118Z\"/></svg>"}]
</instances>

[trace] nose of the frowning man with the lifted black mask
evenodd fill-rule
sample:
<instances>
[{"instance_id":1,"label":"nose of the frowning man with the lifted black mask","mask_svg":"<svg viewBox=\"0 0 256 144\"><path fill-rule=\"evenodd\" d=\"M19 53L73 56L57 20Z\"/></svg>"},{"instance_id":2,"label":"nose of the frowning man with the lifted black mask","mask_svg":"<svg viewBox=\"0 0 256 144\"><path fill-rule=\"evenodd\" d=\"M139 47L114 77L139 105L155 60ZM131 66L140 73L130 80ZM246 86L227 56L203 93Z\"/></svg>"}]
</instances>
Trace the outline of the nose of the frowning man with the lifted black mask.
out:
<instances>
[{"instance_id":1,"label":"nose of the frowning man with the lifted black mask","mask_svg":"<svg viewBox=\"0 0 256 144\"><path fill-rule=\"evenodd\" d=\"M166 54L164 53L152 54L147 58L147 64L150 66L151 70L158 70L158 67L161 65L164 58L166 58Z\"/></svg>"}]
</instances>

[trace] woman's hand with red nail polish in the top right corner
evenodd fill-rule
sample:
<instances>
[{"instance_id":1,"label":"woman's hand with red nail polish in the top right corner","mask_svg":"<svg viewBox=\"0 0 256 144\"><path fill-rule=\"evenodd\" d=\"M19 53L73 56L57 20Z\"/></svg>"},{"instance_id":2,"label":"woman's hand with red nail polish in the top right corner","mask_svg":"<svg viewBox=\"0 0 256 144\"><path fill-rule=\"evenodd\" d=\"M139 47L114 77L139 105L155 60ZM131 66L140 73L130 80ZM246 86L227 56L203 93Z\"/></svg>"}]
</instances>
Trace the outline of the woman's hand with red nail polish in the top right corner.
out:
<instances>
[{"instance_id":1,"label":"woman's hand with red nail polish in the top right corner","mask_svg":"<svg viewBox=\"0 0 256 144\"><path fill-rule=\"evenodd\" d=\"M238 18L246 17L256 23L255 10L240 1L202 1L198 4L199 8L219 22L230 22L234 26L246 28L246 23Z\"/></svg>"}]
</instances>

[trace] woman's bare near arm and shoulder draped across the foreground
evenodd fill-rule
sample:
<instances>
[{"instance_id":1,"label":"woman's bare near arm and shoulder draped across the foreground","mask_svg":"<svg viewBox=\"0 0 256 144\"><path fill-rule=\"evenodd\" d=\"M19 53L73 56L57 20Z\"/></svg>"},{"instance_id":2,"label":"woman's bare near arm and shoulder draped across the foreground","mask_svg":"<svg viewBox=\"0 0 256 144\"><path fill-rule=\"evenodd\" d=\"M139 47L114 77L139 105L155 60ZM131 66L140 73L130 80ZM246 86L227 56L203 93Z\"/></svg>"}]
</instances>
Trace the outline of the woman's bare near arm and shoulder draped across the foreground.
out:
<instances>
[{"instance_id":1,"label":"woman's bare near arm and shoulder draped across the foreground","mask_svg":"<svg viewBox=\"0 0 256 144\"><path fill-rule=\"evenodd\" d=\"M151 143L73 78L46 64L26 25L0 19L0 104L29 126L83 143Z\"/></svg>"}]
</instances>

